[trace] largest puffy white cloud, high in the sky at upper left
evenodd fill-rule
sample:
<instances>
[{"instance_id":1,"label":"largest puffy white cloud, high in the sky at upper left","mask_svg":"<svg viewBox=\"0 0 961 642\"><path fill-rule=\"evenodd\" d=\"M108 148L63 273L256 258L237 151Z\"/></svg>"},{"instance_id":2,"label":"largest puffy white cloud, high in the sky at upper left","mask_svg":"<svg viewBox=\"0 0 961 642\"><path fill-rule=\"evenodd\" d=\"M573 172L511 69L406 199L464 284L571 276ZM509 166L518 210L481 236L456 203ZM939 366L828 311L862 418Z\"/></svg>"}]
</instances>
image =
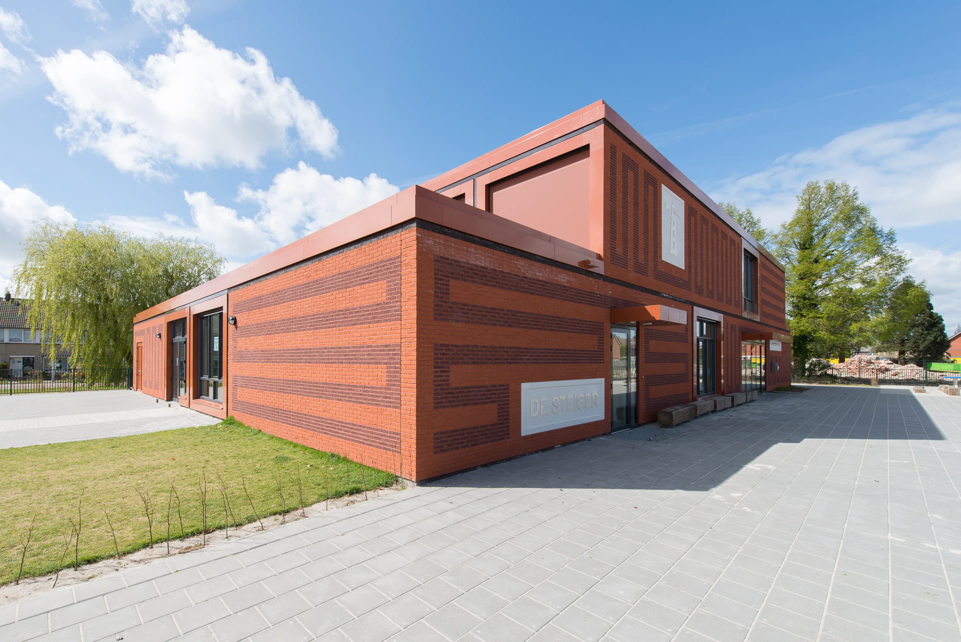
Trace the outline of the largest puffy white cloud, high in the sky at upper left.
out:
<instances>
[{"instance_id":1,"label":"largest puffy white cloud, high in the sky at upper left","mask_svg":"<svg viewBox=\"0 0 961 642\"><path fill-rule=\"evenodd\" d=\"M71 151L102 154L117 169L166 178L169 165L254 168L271 150L301 145L330 157L337 131L267 59L216 47L190 27L172 32L166 53L142 68L106 51L73 50L41 59L51 100L68 123L57 130Z\"/></svg>"}]
</instances>

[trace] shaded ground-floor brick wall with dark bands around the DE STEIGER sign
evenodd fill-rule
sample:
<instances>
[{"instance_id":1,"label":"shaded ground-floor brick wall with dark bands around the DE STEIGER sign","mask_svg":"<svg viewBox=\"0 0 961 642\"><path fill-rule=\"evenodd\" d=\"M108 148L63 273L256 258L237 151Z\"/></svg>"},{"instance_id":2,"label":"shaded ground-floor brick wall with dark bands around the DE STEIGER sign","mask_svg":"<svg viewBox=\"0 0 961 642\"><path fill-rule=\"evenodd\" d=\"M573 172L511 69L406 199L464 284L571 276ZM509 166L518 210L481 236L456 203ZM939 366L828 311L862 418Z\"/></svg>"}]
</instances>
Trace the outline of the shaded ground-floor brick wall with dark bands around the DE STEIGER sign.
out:
<instances>
[{"instance_id":1,"label":"shaded ground-floor brick wall with dark bands around the DE STEIGER sign","mask_svg":"<svg viewBox=\"0 0 961 642\"><path fill-rule=\"evenodd\" d=\"M521 383L604 378L609 388L609 310L662 299L428 229L418 265L417 479L610 431L607 408L604 421L521 435ZM691 339L684 326L642 328L638 340L656 369L640 380L650 421L690 399Z\"/></svg>"}]
</instances>

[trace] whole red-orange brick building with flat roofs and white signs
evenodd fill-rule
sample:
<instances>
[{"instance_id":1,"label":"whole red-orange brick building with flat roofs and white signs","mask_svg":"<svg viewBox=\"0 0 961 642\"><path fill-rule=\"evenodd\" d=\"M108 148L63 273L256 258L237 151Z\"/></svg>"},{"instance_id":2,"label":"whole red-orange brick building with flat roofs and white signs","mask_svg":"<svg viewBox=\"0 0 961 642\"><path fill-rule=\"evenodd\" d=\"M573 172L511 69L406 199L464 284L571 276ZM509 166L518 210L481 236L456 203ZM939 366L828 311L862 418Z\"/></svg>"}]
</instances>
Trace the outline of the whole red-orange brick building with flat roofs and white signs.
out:
<instances>
[{"instance_id":1,"label":"whole red-orange brick building with flat roofs and white signs","mask_svg":"<svg viewBox=\"0 0 961 642\"><path fill-rule=\"evenodd\" d=\"M790 382L783 269L604 102L140 312L134 341L147 394L417 481Z\"/></svg>"}]
</instances>

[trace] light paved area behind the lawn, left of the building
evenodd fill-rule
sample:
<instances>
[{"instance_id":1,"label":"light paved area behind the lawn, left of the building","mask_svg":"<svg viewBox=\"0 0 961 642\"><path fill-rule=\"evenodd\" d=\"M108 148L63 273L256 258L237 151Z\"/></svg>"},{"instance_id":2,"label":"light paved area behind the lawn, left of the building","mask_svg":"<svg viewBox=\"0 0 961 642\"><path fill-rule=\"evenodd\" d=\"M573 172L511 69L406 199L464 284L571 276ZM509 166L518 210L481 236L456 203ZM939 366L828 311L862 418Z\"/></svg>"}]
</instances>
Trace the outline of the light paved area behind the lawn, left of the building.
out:
<instances>
[{"instance_id":1,"label":"light paved area behind the lawn, left of the building","mask_svg":"<svg viewBox=\"0 0 961 642\"><path fill-rule=\"evenodd\" d=\"M0 395L0 448L169 431L219 421L134 390Z\"/></svg>"}]
</instances>

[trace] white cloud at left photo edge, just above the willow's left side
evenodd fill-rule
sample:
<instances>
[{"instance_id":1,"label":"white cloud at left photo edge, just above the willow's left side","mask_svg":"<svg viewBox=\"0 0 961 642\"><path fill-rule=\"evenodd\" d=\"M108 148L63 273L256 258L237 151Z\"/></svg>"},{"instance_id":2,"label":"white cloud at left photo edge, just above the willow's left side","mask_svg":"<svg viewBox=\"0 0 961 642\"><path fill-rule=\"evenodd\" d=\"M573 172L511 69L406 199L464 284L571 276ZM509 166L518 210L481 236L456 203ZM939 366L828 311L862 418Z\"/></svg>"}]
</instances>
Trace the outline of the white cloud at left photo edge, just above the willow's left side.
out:
<instances>
[{"instance_id":1,"label":"white cloud at left photo edge, just above the willow's left side","mask_svg":"<svg viewBox=\"0 0 961 642\"><path fill-rule=\"evenodd\" d=\"M61 223L76 221L62 206L48 205L26 187L11 187L0 181L0 286L9 286L14 266L23 259L21 235L44 218Z\"/></svg>"}]
</instances>

